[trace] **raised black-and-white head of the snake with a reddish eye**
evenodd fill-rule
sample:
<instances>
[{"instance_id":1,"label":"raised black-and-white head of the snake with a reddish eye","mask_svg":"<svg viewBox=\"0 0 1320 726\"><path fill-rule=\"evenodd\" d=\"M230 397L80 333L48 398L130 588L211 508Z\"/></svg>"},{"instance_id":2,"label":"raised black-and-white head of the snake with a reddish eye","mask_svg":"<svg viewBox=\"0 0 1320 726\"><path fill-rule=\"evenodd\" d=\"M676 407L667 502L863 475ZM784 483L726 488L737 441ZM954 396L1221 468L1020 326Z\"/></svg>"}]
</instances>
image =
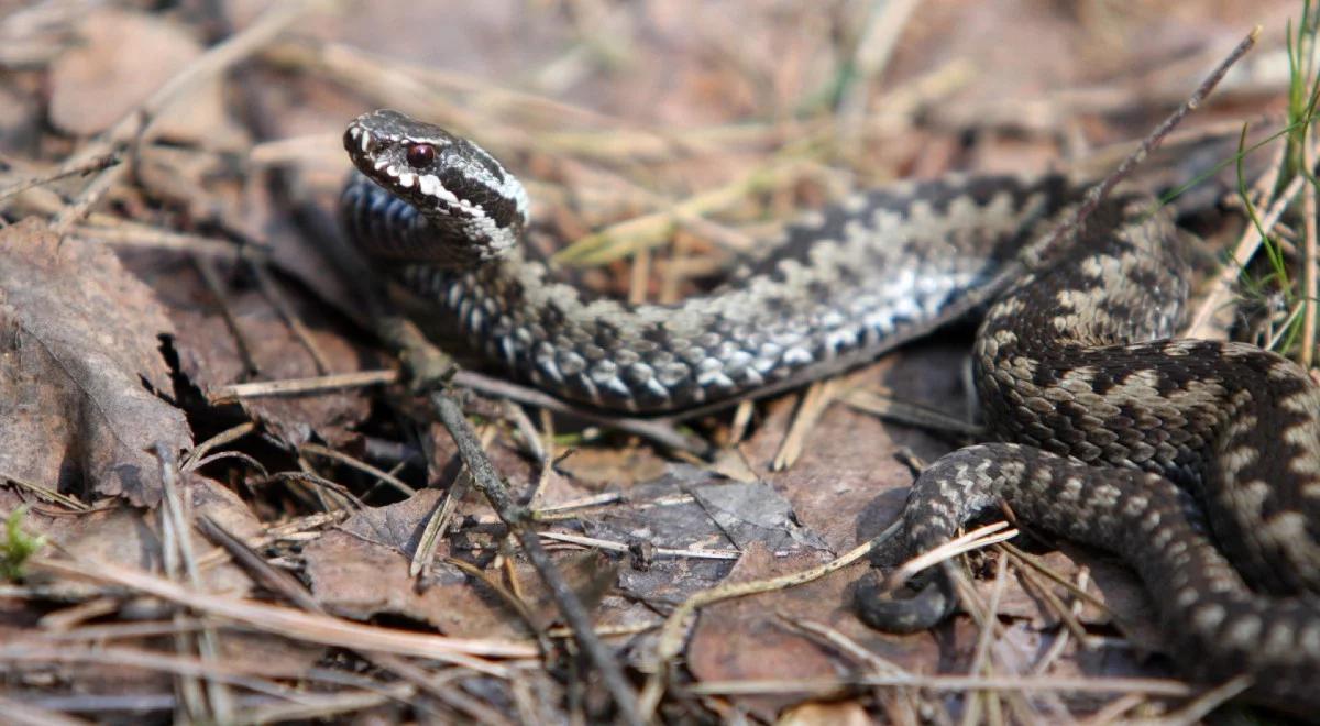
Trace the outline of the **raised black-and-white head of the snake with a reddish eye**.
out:
<instances>
[{"instance_id":1,"label":"raised black-and-white head of the snake with a reddish eye","mask_svg":"<svg viewBox=\"0 0 1320 726\"><path fill-rule=\"evenodd\" d=\"M354 166L433 224L516 238L527 191L486 149L399 111L358 116L343 133Z\"/></svg>"}]
</instances>

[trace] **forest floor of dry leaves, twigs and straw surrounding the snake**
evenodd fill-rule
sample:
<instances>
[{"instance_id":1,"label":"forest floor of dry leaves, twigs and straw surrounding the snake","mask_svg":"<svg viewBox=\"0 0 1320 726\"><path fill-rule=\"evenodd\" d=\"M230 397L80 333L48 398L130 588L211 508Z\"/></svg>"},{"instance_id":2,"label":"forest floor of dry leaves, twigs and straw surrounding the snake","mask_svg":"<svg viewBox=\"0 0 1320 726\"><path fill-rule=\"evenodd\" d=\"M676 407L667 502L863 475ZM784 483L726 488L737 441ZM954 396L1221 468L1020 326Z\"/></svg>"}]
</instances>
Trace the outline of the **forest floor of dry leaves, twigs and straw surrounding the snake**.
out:
<instances>
[{"instance_id":1,"label":"forest floor of dry leaves, twigs and straw surrounding the snake","mask_svg":"<svg viewBox=\"0 0 1320 726\"><path fill-rule=\"evenodd\" d=\"M1201 116L1232 121L1236 141L1241 117L1280 108L1287 78L1271 69L1298 13L1292 0L29 5L0 13L0 515L46 548L0 583L0 721L636 715L611 706L618 684L583 656L535 548L380 350L379 290L334 219L356 114L397 107L474 136L527 182L533 255L591 260L569 273L602 294L671 302L851 189L1126 153L1259 22L1261 48ZM653 661L689 598L810 570L894 520L913 467L964 434L883 422L849 392L972 418L968 331L935 338L841 378L801 421L796 393L652 421L719 446L714 463L647 429L473 392L451 403L624 686L672 668L664 719L1164 714L1176 701L1162 697L1189 690L1147 657L1160 643L1144 595L1067 546L973 560L975 593L998 602L989 648L966 616L912 636L865 628L851 602L869 568L853 564L710 605L681 657ZM348 374L371 383L337 385ZM289 381L313 392L277 391ZM235 401L236 385L269 388ZM776 470L785 438L795 454ZM203 516L227 545L186 527ZM1117 697L863 682L981 665L973 676L1135 680Z\"/></svg>"}]
</instances>

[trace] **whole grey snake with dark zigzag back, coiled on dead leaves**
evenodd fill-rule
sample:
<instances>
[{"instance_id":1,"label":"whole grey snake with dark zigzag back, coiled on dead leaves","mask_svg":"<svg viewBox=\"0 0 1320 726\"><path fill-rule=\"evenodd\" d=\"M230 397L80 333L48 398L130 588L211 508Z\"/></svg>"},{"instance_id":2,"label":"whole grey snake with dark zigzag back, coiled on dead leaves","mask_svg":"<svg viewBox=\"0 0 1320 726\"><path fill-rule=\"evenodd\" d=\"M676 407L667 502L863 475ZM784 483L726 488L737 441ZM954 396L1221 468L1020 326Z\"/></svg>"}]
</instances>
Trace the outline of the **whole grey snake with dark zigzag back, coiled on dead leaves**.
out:
<instances>
[{"instance_id":1,"label":"whole grey snake with dark zigzag back, coiled on dead leaves","mask_svg":"<svg viewBox=\"0 0 1320 726\"><path fill-rule=\"evenodd\" d=\"M981 315L972 362L993 441L920 473L900 549L1007 508L1135 570L1188 678L1242 676L1257 701L1320 713L1320 385L1254 345L1176 337L1188 264L1144 191L1119 186L1057 234L1089 189L1068 174L895 182L807 213L709 293L628 305L524 249L527 191L474 141L381 110L343 144L342 224L372 273L447 339L594 409L791 388L950 312ZM956 609L946 579L911 598L858 587L861 616L933 627Z\"/></svg>"}]
</instances>

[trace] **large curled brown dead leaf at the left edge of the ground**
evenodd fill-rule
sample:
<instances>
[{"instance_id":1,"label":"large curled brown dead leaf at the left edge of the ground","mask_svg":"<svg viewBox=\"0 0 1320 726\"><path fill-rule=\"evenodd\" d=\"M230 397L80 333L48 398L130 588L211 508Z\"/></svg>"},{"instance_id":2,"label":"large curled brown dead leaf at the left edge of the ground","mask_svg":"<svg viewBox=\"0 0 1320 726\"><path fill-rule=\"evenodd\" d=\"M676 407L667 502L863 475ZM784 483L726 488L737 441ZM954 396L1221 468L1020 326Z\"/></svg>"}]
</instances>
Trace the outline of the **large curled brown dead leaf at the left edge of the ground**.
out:
<instances>
[{"instance_id":1,"label":"large curled brown dead leaf at the left edge of the ground","mask_svg":"<svg viewBox=\"0 0 1320 726\"><path fill-rule=\"evenodd\" d=\"M154 445L191 446L154 294L108 249L24 220L0 231L0 477L83 495L161 498Z\"/></svg>"}]
</instances>

